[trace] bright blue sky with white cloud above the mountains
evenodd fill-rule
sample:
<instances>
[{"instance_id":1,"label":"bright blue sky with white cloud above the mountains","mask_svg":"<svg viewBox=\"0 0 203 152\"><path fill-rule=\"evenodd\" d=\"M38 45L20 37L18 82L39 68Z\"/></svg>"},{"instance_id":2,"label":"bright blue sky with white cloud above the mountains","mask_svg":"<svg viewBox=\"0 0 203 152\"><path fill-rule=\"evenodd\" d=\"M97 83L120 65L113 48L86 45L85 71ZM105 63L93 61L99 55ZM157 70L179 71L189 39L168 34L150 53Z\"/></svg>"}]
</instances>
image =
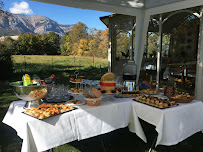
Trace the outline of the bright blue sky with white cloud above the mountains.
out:
<instances>
[{"instance_id":1,"label":"bright blue sky with white cloud above the mountains","mask_svg":"<svg viewBox=\"0 0 203 152\"><path fill-rule=\"evenodd\" d=\"M4 10L12 13L46 16L59 24L76 24L80 21L85 23L89 28L97 28L99 30L106 28L99 17L112 14L110 12L71 8L29 0L2 1L5 5Z\"/></svg>"}]
</instances>

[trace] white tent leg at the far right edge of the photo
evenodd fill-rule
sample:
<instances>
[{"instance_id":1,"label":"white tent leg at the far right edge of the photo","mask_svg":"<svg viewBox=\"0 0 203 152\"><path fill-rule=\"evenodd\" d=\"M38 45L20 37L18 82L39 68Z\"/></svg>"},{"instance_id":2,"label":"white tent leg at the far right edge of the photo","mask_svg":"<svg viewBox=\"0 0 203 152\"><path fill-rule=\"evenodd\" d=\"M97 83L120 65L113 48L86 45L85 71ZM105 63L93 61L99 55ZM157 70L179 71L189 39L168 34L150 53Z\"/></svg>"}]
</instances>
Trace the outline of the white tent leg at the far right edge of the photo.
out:
<instances>
[{"instance_id":1,"label":"white tent leg at the far right edge of the photo","mask_svg":"<svg viewBox=\"0 0 203 152\"><path fill-rule=\"evenodd\" d=\"M195 82L195 96L198 100L203 101L203 7L201 9L200 28L199 28L199 44L197 53L197 68Z\"/></svg>"}]
</instances>

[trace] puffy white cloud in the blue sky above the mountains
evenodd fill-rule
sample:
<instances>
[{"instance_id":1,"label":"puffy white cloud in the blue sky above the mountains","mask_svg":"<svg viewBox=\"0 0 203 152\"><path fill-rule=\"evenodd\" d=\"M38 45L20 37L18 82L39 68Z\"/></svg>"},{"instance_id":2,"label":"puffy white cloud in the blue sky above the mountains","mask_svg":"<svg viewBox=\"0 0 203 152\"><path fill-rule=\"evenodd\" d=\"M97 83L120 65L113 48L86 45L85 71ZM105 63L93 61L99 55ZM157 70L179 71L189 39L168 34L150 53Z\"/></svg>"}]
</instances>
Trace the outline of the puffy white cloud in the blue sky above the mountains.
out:
<instances>
[{"instance_id":1,"label":"puffy white cloud in the blue sky above the mountains","mask_svg":"<svg viewBox=\"0 0 203 152\"><path fill-rule=\"evenodd\" d=\"M33 11L30 9L30 6L27 2L13 3L13 7L10 8L11 13L13 14L33 14Z\"/></svg>"}]
</instances>

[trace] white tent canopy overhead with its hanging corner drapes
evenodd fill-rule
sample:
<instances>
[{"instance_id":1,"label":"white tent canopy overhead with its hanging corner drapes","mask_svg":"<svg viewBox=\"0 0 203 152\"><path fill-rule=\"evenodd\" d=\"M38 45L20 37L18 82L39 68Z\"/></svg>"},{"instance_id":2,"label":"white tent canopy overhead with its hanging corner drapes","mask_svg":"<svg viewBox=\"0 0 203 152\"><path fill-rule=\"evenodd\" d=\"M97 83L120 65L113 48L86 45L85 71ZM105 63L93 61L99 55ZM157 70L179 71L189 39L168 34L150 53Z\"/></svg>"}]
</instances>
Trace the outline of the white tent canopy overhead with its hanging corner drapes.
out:
<instances>
[{"instance_id":1,"label":"white tent canopy overhead with its hanging corner drapes","mask_svg":"<svg viewBox=\"0 0 203 152\"><path fill-rule=\"evenodd\" d=\"M163 13L188 9L197 6L200 7L203 6L203 0L33 0L33 1L136 16L134 60L136 61L137 64L137 82L139 79L141 63L144 54L145 39L147 36L151 16L158 14L162 16ZM203 9L201 9L200 12L201 12L199 17L200 34L199 34L199 48L197 54L198 58L197 58L197 74L196 74L197 77L196 77L195 96L197 97L198 100L203 100L203 94L201 93L203 91L203 17L202 17ZM162 17L160 18L162 19ZM159 31L162 31L162 24L160 25ZM160 47L158 48L158 50L160 51ZM109 52L108 55L110 55ZM159 68L157 68L157 71L158 70Z\"/></svg>"}]
</instances>

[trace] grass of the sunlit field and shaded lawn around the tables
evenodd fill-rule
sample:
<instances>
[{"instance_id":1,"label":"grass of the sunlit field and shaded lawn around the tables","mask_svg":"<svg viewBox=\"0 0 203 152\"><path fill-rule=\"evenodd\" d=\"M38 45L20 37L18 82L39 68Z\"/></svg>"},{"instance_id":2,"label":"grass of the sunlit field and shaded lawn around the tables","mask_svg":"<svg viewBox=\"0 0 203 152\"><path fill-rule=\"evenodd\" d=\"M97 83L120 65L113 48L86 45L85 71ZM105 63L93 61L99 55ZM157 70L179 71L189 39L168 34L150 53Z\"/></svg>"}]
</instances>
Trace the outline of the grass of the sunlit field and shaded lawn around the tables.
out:
<instances>
[{"instance_id":1,"label":"grass of the sunlit field and shaded lawn around the tables","mask_svg":"<svg viewBox=\"0 0 203 152\"><path fill-rule=\"evenodd\" d=\"M25 73L31 75L36 73L42 79L53 73L56 75L56 83L69 84L69 77L74 75L75 70L80 72L81 77L98 80L107 71L108 61L95 58L94 63L96 66L95 64L93 66L92 57L75 57L74 62L73 56L13 56L13 77L9 81L0 81L1 121L10 103L18 100L8 85L10 81L20 80ZM129 132L126 127L108 134L58 146L54 148L54 152L147 152L157 133L154 126L140 121L148 139L147 144L134 133ZM203 134L196 133L177 145L157 146L153 152L202 152L202 140ZM18 152L21 144L22 140L16 135L15 130L0 123L0 152Z\"/></svg>"}]
</instances>

